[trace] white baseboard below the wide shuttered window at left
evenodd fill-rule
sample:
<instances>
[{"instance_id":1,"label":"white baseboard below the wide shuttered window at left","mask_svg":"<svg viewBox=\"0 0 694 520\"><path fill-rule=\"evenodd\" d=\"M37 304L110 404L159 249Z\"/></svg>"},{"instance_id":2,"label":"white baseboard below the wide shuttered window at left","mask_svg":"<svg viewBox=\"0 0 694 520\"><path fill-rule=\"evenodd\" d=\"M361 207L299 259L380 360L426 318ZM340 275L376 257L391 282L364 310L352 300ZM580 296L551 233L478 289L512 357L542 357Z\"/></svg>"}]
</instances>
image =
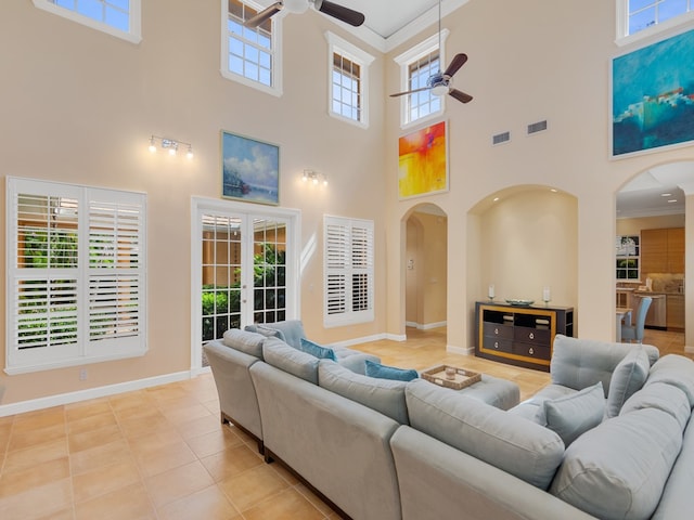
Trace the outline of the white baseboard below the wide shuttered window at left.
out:
<instances>
[{"instance_id":1,"label":"white baseboard below the wide shuttered window at left","mask_svg":"<svg viewBox=\"0 0 694 520\"><path fill-rule=\"evenodd\" d=\"M202 372L204 372L204 369L201 369L200 372L196 370L196 373ZM107 385L105 387L89 388L77 392L60 393L56 395L49 395L47 398L3 404L0 405L0 417L23 414L25 412L34 412L35 410L50 408L52 406L60 406L63 404L77 403L79 401L87 401L88 399L104 398L106 395L142 390L143 388L156 387L168 382L183 381L185 379L191 379L191 377L194 377L191 370L178 372L163 376L147 377L145 379L137 379L134 381Z\"/></svg>"}]
</instances>

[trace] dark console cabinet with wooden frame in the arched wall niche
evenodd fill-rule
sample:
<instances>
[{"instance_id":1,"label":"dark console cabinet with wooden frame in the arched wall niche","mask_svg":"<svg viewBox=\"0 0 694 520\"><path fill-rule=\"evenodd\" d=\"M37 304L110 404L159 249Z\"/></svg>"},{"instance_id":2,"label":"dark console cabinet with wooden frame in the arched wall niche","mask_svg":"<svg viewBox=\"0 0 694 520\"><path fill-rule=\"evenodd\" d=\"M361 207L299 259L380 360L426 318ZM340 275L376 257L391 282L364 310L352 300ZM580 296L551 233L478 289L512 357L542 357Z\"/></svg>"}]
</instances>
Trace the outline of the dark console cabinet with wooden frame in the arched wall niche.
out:
<instances>
[{"instance_id":1,"label":"dark console cabinet with wooden frame in the arched wall niche","mask_svg":"<svg viewBox=\"0 0 694 520\"><path fill-rule=\"evenodd\" d=\"M475 328L475 355L549 372L554 336L574 336L574 309L478 301Z\"/></svg>"}]
</instances>

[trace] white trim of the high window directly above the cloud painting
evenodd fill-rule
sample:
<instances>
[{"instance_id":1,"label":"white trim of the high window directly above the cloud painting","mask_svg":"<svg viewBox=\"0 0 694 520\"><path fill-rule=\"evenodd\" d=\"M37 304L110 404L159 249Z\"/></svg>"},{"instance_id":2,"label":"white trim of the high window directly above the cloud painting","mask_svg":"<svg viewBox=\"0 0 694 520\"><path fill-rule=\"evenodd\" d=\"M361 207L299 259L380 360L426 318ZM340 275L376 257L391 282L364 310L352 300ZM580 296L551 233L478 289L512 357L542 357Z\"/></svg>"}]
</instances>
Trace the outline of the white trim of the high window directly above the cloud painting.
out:
<instances>
[{"instance_id":1,"label":"white trim of the high window directly above the cloud painting","mask_svg":"<svg viewBox=\"0 0 694 520\"><path fill-rule=\"evenodd\" d=\"M257 11L262 11L265 9L262 5L250 0L241 1ZM221 0L220 4L221 52L219 72L221 76L226 79L236 81L237 83L245 84L246 87L280 98L282 95L282 46L280 44L282 41L282 21L288 12L284 10L283 12L281 11L272 16L272 84L267 86L229 70L229 30L227 28L227 22L229 20L229 2L228 0Z\"/></svg>"}]
</instances>

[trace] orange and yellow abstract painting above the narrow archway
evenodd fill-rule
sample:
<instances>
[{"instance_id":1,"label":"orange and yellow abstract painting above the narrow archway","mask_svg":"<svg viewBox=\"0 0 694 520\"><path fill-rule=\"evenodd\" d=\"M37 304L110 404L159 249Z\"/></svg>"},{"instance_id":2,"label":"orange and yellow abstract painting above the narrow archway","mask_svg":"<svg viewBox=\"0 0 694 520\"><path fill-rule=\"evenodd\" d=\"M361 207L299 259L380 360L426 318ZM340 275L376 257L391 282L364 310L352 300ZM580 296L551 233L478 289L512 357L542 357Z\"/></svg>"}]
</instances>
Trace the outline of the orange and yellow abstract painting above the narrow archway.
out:
<instances>
[{"instance_id":1,"label":"orange and yellow abstract painting above the narrow archway","mask_svg":"<svg viewBox=\"0 0 694 520\"><path fill-rule=\"evenodd\" d=\"M440 121L399 139L400 198L448 191L446 133L446 121Z\"/></svg>"}]
</instances>

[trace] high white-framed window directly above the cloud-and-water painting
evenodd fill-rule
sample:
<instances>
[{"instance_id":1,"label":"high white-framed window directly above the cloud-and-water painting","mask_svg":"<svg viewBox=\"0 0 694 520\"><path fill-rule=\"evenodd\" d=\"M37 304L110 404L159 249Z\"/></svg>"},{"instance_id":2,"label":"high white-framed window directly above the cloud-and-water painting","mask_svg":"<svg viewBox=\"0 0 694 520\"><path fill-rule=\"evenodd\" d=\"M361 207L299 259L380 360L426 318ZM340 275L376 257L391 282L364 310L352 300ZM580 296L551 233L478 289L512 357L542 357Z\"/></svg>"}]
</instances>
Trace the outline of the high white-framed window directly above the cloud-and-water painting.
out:
<instances>
[{"instance_id":1,"label":"high white-framed window directly above the cloud-and-water painting","mask_svg":"<svg viewBox=\"0 0 694 520\"><path fill-rule=\"evenodd\" d=\"M221 74L273 95L282 94L280 46L281 15L258 27L244 27L261 8L241 0L222 0Z\"/></svg>"}]
</instances>

